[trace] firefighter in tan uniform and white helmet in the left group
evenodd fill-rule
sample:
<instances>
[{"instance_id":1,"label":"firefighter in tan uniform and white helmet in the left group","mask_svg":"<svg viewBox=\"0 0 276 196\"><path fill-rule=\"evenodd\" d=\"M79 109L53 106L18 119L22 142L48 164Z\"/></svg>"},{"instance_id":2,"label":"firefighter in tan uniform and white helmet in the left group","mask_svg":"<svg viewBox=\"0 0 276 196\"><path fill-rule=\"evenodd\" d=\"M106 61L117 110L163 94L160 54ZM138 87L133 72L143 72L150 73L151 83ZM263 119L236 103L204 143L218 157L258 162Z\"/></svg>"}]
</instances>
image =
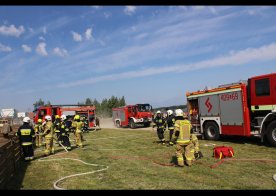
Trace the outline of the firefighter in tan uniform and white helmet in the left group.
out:
<instances>
[{"instance_id":1,"label":"firefighter in tan uniform and white helmet in the left group","mask_svg":"<svg viewBox=\"0 0 276 196\"><path fill-rule=\"evenodd\" d=\"M54 154L55 149L53 145L54 127L51 116L45 116L45 123L43 126L43 135L45 136L45 155Z\"/></svg>"}]
</instances>

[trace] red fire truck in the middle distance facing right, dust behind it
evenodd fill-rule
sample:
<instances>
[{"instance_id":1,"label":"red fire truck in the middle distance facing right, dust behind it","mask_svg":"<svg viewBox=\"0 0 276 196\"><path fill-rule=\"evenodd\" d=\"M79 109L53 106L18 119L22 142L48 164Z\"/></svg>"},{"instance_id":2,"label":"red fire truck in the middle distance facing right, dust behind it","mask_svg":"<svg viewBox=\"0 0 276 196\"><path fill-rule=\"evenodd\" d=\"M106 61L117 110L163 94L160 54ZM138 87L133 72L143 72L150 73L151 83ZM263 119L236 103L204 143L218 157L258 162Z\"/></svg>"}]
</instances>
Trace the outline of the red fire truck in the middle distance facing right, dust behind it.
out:
<instances>
[{"instance_id":1,"label":"red fire truck in the middle distance facing right, dust behind it","mask_svg":"<svg viewBox=\"0 0 276 196\"><path fill-rule=\"evenodd\" d=\"M112 108L112 118L116 127L135 129L137 126L150 126L152 122L152 106L150 104L127 105Z\"/></svg>"}]
</instances>

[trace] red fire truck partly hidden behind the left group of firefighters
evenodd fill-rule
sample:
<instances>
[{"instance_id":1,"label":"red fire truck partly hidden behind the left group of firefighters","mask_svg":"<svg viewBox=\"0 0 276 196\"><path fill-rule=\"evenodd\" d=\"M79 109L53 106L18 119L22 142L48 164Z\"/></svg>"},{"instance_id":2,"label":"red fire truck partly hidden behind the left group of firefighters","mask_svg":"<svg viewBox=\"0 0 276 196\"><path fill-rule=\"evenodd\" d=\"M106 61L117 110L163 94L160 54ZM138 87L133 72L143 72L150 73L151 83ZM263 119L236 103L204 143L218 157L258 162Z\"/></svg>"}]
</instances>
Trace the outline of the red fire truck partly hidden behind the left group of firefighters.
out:
<instances>
[{"instance_id":1,"label":"red fire truck partly hidden behind the left group of firefighters","mask_svg":"<svg viewBox=\"0 0 276 196\"><path fill-rule=\"evenodd\" d=\"M94 128L96 126L95 106L93 105L49 105L40 106L34 110L34 123L40 118L44 120L46 115L52 117L52 121L55 120L55 116L65 114L67 118L73 119L74 115L80 115L86 117L88 120L88 128Z\"/></svg>"}]
</instances>

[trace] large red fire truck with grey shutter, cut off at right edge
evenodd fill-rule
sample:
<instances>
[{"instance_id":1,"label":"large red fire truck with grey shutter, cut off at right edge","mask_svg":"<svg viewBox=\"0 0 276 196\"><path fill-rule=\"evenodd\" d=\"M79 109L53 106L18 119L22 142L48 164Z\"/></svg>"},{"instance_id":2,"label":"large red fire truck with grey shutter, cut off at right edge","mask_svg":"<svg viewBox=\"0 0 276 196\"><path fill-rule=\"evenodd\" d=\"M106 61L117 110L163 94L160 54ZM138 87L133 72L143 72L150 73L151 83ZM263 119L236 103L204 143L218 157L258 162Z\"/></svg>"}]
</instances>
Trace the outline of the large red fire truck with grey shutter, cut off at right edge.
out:
<instances>
[{"instance_id":1,"label":"large red fire truck with grey shutter, cut off at right edge","mask_svg":"<svg viewBox=\"0 0 276 196\"><path fill-rule=\"evenodd\" d=\"M259 136L276 146L276 73L186 96L193 129L204 138Z\"/></svg>"}]
</instances>

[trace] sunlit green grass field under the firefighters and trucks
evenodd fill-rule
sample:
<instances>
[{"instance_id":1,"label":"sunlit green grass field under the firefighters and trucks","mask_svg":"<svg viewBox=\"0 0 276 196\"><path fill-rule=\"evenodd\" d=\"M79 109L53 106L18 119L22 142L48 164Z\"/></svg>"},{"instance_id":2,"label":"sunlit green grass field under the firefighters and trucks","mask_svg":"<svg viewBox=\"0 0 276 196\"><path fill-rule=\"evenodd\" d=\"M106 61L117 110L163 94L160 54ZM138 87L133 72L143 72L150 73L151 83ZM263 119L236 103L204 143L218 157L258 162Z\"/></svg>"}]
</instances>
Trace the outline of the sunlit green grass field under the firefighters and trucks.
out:
<instances>
[{"instance_id":1,"label":"sunlit green grass field under the firefighters and trucks","mask_svg":"<svg viewBox=\"0 0 276 196\"><path fill-rule=\"evenodd\" d=\"M165 132L168 138L168 132ZM43 152L35 152L36 159L23 163L7 189L54 189L53 182L68 175L98 170L105 171L76 176L61 181L65 189L276 189L276 163L239 161L238 159L276 160L276 148L261 145L257 138L226 138L220 141L199 140L204 158L192 167L162 166L174 160L174 146L155 143L156 132L151 130L102 129L84 134L85 149L65 152L56 147L54 158L78 158L89 166L74 160L39 161ZM74 139L73 137L71 138ZM72 144L75 145L74 141ZM218 162L212 157L213 145L232 146L237 161ZM157 163L155 163L155 162Z\"/></svg>"}]
</instances>

